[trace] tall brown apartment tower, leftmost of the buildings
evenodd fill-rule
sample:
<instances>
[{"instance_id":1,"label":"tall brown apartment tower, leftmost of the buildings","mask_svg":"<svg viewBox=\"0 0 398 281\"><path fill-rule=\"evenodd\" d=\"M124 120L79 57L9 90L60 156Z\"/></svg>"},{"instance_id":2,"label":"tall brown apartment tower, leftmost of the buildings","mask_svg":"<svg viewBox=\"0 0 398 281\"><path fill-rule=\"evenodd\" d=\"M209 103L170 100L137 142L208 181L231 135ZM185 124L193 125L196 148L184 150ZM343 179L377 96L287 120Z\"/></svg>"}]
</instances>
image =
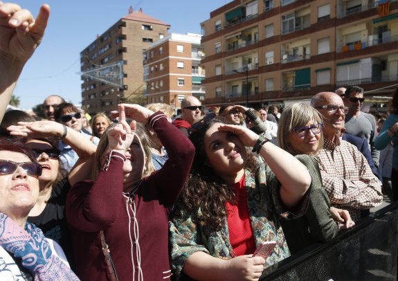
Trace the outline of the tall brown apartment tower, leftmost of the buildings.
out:
<instances>
[{"instance_id":1,"label":"tall brown apartment tower, leftmost of the buildings","mask_svg":"<svg viewBox=\"0 0 398 281\"><path fill-rule=\"evenodd\" d=\"M89 114L109 112L122 100L143 96L143 52L167 36L169 28L170 24L130 7L129 15L98 35L80 53L82 108Z\"/></svg>"}]
</instances>

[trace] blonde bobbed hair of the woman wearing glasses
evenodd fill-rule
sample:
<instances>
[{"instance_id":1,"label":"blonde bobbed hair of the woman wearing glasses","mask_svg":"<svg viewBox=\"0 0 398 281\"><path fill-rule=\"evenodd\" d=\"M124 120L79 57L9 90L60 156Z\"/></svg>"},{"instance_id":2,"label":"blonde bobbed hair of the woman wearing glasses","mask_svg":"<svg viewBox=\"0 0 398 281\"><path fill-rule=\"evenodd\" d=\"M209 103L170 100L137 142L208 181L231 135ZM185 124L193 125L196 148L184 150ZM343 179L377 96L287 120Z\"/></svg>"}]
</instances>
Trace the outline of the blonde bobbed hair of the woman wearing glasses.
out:
<instances>
[{"instance_id":1,"label":"blonde bobbed hair of the woman wearing glasses","mask_svg":"<svg viewBox=\"0 0 398 281\"><path fill-rule=\"evenodd\" d=\"M309 105L304 103L295 103L286 107L282 115L280 116L278 123L278 144L280 148L286 150L290 154L296 155L300 154L293 149L291 142L289 141L289 132L296 127L305 127L309 120L314 120L316 123L323 123L322 116L318 110L314 109ZM323 134L320 133L320 138L318 142L318 147L316 151L312 153L315 155L318 150L323 147Z\"/></svg>"}]
</instances>

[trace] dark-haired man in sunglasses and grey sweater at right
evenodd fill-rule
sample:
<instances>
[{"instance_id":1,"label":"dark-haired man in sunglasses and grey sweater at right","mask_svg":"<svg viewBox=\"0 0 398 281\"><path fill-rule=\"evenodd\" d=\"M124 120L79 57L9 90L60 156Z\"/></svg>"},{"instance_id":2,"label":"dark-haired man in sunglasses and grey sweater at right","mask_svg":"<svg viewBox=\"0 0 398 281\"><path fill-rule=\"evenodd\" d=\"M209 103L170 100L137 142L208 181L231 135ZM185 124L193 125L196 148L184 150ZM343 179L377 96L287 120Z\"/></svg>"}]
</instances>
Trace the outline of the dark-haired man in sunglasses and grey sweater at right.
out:
<instances>
[{"instance_id":1,"label":"dark-haired man in sunglasses and grey sweater at right","mask_svg":"<svg viewBox=\"0 0 398 281\"><path fill-rule=\"evenodd\" d=\"M348 112L345 115L345 133L365 138L374 165L379 167L380 152L374 148L374 141L377 137L376 120L372 114L361 111L364 100L361 87L351 86L345 90L343 101L348 107Z\"/></svg>"}]
</instances>

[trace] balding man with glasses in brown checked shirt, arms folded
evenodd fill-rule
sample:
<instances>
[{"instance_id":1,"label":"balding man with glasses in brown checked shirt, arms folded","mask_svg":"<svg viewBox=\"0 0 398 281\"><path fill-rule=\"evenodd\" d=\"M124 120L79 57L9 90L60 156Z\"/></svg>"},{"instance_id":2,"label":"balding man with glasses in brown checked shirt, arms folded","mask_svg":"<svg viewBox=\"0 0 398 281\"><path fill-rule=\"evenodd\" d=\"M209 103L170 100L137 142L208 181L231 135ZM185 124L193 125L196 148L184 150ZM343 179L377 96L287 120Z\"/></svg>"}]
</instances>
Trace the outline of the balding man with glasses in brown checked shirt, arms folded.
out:
<instances>
[{"instance_id":1,"label":"balding man with glasses in brown checked shirt, arms folded","mask_svg":"<svg viewBox=\"0 0 398 281\"><path fill-rule=\"evenodd\" d=\"M333 92L317 93L311 106L323 116L325 143L316 160L330 203L348 210L351 218L359 221L361 210L379 206L383 201L379 179L361 152L338 136L348 111L341 97Z\"/></svg>"}]
</instances>

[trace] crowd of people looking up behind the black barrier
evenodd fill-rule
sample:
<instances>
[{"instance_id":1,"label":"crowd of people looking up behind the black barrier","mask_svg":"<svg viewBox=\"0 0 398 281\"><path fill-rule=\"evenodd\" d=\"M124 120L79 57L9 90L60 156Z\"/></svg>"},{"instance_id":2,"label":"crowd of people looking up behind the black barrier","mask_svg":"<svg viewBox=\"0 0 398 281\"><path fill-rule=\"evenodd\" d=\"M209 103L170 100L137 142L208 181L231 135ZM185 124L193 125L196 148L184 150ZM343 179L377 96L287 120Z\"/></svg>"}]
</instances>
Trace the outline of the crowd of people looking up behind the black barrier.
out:
<instances>
[{"instance_id":1,"label":"crowd of people looking up behind the black barrier","mask_svg":"<svg viewBox=\"0 0 398 281\"><path fill-rule=\"evenodd\" d=\"M0 2L1 280L258 280L352 228L382 185L398 198L398 90L381 124L361 87L283 110L189 96L177 118L91 118L56 95L43 120L6 111L49 15Z\"/></svg>"}]
</instances>

